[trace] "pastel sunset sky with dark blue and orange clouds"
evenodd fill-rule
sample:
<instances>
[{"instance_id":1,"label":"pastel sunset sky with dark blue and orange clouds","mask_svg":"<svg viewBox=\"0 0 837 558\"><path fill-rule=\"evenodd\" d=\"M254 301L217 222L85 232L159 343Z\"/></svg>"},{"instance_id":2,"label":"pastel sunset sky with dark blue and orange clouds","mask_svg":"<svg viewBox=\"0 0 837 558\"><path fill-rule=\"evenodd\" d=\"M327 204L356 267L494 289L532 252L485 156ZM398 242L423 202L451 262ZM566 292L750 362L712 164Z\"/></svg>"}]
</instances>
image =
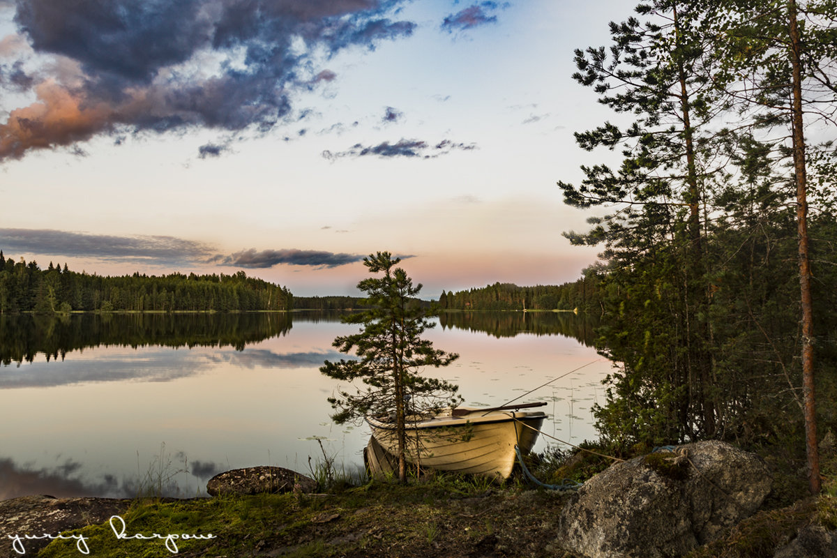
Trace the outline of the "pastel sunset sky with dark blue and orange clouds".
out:
<instances>
[{"instance_id":1,"label":"pastel sunset sky with dark blue and orange clouds","mask_svg":"<svg viewBox=\"0 0 837 558\"><path fill-rule=\"evenodd\" d=\"M0 249L76 271L424 296L577 279L559 180L612 118L573 49L615 0L0 0Z\"/></svg>"}]
</instances>

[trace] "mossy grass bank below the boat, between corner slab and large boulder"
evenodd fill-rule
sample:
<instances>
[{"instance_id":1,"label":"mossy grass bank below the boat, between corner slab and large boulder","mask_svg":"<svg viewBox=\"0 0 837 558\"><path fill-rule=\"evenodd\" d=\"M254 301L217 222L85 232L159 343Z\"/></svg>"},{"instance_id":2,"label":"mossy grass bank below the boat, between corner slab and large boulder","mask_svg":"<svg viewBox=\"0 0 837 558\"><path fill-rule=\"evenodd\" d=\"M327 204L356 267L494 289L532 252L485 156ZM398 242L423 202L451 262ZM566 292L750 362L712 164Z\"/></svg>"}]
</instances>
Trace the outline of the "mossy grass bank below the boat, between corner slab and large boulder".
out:
<instances>
[{"instance_id":1,"label":"mossy grass bank below the boat, between corner slab and large boulder","mask_svg":"<svg viewBox=\"0 0 837 558\"><path fill-rule=\"evenodd\" d=\"M136 499L121 516L124 533L162 538L119 540L108 523L64 535L84 536L91 556L108 557L169 555L172 534L213 535L174 540L181 556L543 556L557 553L561 507L557 494L455 479L372 482L329 494ZM55 540L39 556L74 555L75 545Z\"/></svg>"}]
</instances>

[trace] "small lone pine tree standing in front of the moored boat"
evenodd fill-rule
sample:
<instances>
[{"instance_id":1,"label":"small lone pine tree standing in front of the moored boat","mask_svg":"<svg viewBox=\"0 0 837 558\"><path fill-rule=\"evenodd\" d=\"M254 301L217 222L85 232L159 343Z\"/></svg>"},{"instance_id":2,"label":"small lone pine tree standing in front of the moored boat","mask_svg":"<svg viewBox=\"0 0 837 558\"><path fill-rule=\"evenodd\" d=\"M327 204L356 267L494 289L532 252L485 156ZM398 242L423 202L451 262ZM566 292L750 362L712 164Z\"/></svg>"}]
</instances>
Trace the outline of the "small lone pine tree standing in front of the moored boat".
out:
<instances>
[{"instance_id":1,"label":"small lone pine tree standing in front of the moored boat","mask_svg":"<svg viewBox=\"0 0 837 558\"><path fill-rule=\"evenodd\" d=\"M336 380L360 380L365 384L355 393L340 389L330 397L336 409L332 420L338 424L366 416L394 413L398 437L398 478L407 479L405 451L407 448L406 415L455 406L461 400L457 387L447 381L420 376L426 366L448 366L459 355L433 348L421 338L434 324L424 316L418 301L421 284L413 286L407 273L395 266L388 252L370 254L363 260L369 272L383 277L363 279L357 288L367 293L370 310L349 315L344 321L359 324L363 329L354 335L336 337L333 346L341 352L354 351L357 359L326 361L320 371Z\"/></svg>"}]
</instances>

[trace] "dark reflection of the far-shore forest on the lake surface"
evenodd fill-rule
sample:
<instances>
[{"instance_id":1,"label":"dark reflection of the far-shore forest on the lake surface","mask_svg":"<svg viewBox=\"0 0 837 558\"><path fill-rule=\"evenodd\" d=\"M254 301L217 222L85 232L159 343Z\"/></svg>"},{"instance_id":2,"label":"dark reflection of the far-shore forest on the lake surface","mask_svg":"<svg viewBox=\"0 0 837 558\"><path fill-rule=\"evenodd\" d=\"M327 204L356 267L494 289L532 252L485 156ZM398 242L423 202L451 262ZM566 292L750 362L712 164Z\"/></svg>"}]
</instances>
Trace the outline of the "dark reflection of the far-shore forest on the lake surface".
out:
<instances>
[{"instance_id":1,"label":"dark reflection of the far-shore forest on the lake surface","mask_svg":"<svg viewBox=\"0 0 837 558\"><path fill-rule=\"evenodd\" d=\"M0 315L0 362L18 366L64 360L67 353L98 346L232 346L237 351L259 341L287 335L294 320L312 324L339 322L345 313L305 311L243 314L73 314ZM569 312L449 312L439 316L443 330L482 331L496 338L516 335L564 335L593 346L597 322ZM319 359L321 354L310 355ZM305 356L297 356L304 359ZM280 361L276 361L280 363ZM298 361L302 362L302 361ZM321 360L317 360L321 362ZM313 363L310 361L309 363ZM118 367L118 366L117 366Z\"/></svg>"}]
</instances>

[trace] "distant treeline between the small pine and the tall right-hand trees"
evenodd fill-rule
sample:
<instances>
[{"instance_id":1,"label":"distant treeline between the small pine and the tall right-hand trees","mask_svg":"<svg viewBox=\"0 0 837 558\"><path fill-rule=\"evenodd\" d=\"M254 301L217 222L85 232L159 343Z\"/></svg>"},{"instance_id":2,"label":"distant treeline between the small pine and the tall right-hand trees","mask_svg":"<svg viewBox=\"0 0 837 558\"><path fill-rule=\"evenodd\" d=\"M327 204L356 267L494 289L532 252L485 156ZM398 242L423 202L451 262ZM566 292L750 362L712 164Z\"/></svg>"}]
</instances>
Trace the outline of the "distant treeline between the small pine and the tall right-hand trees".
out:
<instances>
[{"instance_id":1,"label":"distant treeline between the small pine and the tall right-hand trees","mask_svg":"<svg viewBox=\"0 0 837 558\"><path fill-rule=\"evenodd\" d=\"M590 310L600 308L598 279L584 276L572 283L518 287L495 283L480 289L439 296L442 310Z\"/></svg>"}]
</instances>

